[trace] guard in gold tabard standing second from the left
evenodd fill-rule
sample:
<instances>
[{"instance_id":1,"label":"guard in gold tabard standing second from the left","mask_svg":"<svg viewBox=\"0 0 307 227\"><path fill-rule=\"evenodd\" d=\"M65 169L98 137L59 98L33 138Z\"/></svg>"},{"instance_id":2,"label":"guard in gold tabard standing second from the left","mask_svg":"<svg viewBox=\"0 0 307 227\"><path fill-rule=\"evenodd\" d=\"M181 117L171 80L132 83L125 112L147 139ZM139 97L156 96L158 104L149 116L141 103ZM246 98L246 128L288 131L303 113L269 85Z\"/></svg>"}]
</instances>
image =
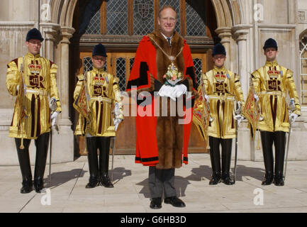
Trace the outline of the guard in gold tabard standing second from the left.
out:
<instances>
[{"instance_id":1,"label":"guard in gold tabard standing second from the left","mask_svg":"<svg viewBox=\"0 0 307 227\"><path fill-rule=\"evenodd\" d=\"M118 78L104 71L106 57L104 45L96 45L91 57L93 70L79 75L74 89L74 107L79 111L75 135L86 135L90 175L86 188L96 187L99 183L113 187L108 177L110 137L116 135L118 124L123 120L123 108ZM112 104L115 106L114 118Z\"/></svg>"}]
</instances>

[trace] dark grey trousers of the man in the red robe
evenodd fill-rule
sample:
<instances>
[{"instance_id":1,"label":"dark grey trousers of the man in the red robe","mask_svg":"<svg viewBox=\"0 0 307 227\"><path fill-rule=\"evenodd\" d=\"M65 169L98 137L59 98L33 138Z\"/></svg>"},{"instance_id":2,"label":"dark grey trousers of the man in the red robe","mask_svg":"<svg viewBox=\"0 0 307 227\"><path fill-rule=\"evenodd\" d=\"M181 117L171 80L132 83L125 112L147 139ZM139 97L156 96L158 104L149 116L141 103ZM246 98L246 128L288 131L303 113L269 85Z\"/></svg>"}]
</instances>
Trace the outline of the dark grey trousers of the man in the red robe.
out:
<instances>
[{"instance_id":1,"label":"dark grey trousers of the man in the red robe","mask_svg":"<svg viewBox=\"0 0 307 227\"><path fill-rule=\"evenodd\" d=\"M148 184L152 198L177 196L174 187L175 169L160 170L155 166L149 167Z\"/></svg>"}]
</instances>

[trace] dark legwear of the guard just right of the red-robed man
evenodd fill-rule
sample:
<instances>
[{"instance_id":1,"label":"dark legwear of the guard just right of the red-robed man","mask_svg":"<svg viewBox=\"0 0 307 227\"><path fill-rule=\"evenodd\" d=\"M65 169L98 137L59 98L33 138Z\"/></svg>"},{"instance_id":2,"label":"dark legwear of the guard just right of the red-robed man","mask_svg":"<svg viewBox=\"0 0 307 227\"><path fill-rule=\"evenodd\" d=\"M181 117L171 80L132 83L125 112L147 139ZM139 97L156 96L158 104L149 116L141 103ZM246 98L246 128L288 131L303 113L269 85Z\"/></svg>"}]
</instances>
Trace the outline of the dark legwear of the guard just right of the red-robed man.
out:
<instances>
[{"instance_id":1,"label":"dark legwear of the guard just right of the red-robed man","mask_svg":"<svg viewBox=\"0 0 307 227\"><path fill-rule=\"evenodd\" d=\"M222 173L229 172L233 139L222 139L209 136L209 145L213 174L221 173L220 145L222 145Z\"/></svg>"}]
</instances>

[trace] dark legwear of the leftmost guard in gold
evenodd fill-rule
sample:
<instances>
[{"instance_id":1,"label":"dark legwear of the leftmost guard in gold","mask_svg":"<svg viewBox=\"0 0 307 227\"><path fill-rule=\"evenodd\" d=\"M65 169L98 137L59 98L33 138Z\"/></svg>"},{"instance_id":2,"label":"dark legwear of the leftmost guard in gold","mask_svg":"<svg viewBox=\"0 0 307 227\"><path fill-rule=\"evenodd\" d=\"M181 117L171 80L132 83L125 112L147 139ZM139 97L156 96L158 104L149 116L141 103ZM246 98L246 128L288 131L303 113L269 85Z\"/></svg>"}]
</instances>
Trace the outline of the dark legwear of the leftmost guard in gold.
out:
<instances>
[{"instance_id":1,"label":"dark legwear of the leftmost guard in gold","mask_svg":"<svg viewBox=\"0 0 307 227\"><path fill-rule=\"evenodd\" d=\"M48 155L49 136L50 133L43 133L42 135L38 136L36 140L34 140L36 147L34 180L43 179L44 177L46 160ZM25 147L24 149L19 148L21 145L20 138L15 138L15 143L23 181L31 181L32 172L29 157L29 146L31 140L23 139L23 145Z\"/></svg>"}]
</instances>

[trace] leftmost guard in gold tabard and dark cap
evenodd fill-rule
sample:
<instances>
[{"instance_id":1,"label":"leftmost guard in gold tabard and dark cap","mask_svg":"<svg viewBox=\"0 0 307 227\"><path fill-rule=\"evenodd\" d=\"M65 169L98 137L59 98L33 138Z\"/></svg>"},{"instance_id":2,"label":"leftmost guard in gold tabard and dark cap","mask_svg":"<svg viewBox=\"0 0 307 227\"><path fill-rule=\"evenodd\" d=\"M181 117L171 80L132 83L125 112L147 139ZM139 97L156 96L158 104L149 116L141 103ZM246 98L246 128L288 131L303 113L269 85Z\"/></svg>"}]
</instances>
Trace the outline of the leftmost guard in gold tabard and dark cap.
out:
<instances>
[{"instance_id":1,"label":"leftmost guard in gold tabard and dark cap","mask_svg":"<svg viewBox=\"0 0 307 227\"><path fill-rule=\"evenodd\" d=\"M29 193L33 188L29 158L31 139L35 140L36 146L34 187L36 192L43 189L50 126L55 124L57 114L61 111L57 91L57 65L40 57L43 40L36 28L28 31L28 53L7 65L6 87L11 95L17 96L9 136L15 138L16 142L23 177L21 193ZM50 113L48 96L54 106L53 114Z\"/></svg>"}]
</instances>

